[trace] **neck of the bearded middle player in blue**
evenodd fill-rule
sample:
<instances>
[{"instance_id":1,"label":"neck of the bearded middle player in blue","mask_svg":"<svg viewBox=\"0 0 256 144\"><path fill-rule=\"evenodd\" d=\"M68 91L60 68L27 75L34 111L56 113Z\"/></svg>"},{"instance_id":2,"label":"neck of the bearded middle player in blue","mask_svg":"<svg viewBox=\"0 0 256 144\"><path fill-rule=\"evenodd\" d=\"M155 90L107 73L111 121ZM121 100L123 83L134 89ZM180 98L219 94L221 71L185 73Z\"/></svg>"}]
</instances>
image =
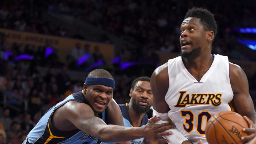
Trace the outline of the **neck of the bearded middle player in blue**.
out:
<instances>
[{"instance_id":1,"label":"neck of the bearded middle player in blue","mask_svg":"<svg viewBox=\"0 0 256 144\"><path fill-rule=\"evenodd\" d=\"M133 109L131 103L128 103L127 109L128 109L130 120L132 121L133 126L134 127L139 127L141 122L142 122L142 118L143 118L145 112L144 113L139 113L139 112L135 111Z\"/></svg>"}]
</instances>

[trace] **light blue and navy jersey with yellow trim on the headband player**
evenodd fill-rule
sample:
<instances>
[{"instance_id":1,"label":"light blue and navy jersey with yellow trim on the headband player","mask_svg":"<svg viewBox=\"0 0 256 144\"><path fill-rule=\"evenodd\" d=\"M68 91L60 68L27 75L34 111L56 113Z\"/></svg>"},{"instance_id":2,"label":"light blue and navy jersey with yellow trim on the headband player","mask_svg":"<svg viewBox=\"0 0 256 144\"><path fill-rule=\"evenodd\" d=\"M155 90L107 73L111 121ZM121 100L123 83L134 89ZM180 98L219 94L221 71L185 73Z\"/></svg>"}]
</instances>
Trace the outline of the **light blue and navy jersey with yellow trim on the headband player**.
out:
<instances>
[{"instance_id":1,"label":"light blue and navy jersey with yellow trim on the headband player","mask_svg":"<svg viewBox=\"0 0 256 144\"><path fill-rule=\"evenodd\" d=\"M23 144L96 144L98 139L79 129L71 131L57 130L51 122L52 114L57 108L69 101L87 103L82 91L66 97L63 101L50 108L39 120L36 126L28 133ZM105 111L99 114L99 117L105 121Z\"/></svg>"}]
</instances>

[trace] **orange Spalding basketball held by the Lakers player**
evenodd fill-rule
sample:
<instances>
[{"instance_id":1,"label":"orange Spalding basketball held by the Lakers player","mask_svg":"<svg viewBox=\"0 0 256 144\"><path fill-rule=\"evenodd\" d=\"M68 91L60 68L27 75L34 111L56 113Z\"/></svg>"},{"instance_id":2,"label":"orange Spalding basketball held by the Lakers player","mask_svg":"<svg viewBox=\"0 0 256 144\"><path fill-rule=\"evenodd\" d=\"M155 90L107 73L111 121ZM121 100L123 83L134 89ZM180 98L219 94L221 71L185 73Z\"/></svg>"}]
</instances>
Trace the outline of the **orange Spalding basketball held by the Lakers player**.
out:
<instances>
[{"instance_id":1,"label":"orange Spalding basketball held by the Lakers player","mask_svg":"<svg viewBox=\"0 0 256 144\"><path fill-rule=\"evenodd\" d=\"M206 139L209 144L242 144L242 132L248 128L244 118L232 111L222 111L214 114L206 125Z\"/></svg>"}]
</instances>

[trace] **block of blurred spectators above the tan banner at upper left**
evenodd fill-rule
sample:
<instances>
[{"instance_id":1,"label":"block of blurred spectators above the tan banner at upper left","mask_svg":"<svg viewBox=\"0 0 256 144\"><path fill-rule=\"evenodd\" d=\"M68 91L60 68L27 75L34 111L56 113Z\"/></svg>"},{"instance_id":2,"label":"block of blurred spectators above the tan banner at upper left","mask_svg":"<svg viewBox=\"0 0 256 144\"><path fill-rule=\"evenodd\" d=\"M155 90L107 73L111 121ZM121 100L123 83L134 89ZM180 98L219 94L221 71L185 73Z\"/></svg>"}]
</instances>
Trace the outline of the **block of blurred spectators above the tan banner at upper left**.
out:
<instances>
[{"instance_id":1,"label":"block of blurred spectators above the tan banner at upper left","mask_svg":"<svg viewBox=\"0 0 256 144\"><path fill-rule=\"evenodd\" d=\"M60 37L84 39L77 31L66 30L63 24L55 25L44 21L42 15L47 13L41 4L30 0L1 0L0 28L21 32L32 32Z\"/></svg>"}]
</instances>

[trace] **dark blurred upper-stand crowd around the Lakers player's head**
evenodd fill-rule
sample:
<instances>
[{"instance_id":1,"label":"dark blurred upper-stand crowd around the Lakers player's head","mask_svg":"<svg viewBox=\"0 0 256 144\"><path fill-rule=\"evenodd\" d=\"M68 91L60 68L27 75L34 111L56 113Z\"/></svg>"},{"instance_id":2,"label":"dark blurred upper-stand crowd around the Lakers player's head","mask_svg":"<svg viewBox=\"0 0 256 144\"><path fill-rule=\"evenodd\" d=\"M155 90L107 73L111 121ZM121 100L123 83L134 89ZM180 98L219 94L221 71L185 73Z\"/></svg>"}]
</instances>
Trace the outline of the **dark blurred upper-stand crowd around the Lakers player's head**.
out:
<instances>
[{"instance_id":1,"label":"dark blurred upper-stand crowd around the Lakers player's head","mask_svg":"<svg viewBox=\"0 0 256 144\"><path fill-rule=\"evenodd\" d=\"M256 17L251 15L256 6L253 0L242 3L233 0L54 0L50 3L49 11L73 15L124 39L137 42L136 50L143 47L143 53L149 48L162 52L180 52L180 24L187 10L194 6L207 8L215 16L218 34L213 43L213 53L216 54L249 59L230 33L235 28L256 26Z\"/></svg>"}]
</instances>

